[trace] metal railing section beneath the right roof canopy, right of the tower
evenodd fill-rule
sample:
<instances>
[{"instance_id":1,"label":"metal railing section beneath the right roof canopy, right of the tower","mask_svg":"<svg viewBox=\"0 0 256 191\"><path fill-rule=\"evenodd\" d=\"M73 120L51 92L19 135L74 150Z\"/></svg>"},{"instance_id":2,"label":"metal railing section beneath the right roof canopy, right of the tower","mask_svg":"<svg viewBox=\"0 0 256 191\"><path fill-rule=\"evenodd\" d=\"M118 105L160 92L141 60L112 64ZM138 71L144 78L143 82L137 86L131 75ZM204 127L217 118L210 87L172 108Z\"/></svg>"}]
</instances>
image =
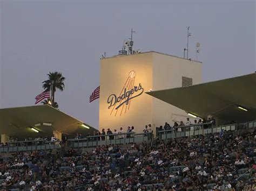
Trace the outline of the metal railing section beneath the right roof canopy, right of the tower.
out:
<instances>
[{"instance_id":1,"label":"metal railing section beneath the right roof canopy, right of the tower","mask_svg":"<svg viewBox=\"0 0 256 191\"><path fill-rule=\"evenodd\" d=\"M191 124L186 126L173 127L171 130L158 131L160 139L170 139L179 137L192 137L197 135L206 135L218 133L221 130L236 131L237 124L213 126L212 123Z\"/></svg>"}]
</instances>

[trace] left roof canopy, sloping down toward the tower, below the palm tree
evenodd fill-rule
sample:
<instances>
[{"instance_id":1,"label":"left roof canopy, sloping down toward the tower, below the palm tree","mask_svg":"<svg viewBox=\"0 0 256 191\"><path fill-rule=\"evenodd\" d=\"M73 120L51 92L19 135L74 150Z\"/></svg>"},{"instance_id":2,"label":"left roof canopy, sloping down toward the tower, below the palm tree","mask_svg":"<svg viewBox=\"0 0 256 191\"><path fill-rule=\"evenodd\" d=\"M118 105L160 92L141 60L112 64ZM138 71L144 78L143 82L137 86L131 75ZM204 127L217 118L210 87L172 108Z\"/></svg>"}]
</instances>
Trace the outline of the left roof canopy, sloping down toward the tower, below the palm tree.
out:
<instances>
[{"instance_id":1,"label":"left roof canopy, sloping down toward the tower, below the palm tree","mask_svg":"<svg viewBox=\"0 0 256 191\"><path fill-rule=\"evenodd\" d=\"M90 129L84 128L82 124ZM31 128L39 132L36 133ZM94 130L90 125L50 105L0 109L0 134L8 136L51 136L52 131L74 135L77 132L87 134Z\"/></svg>"}]
</instances>

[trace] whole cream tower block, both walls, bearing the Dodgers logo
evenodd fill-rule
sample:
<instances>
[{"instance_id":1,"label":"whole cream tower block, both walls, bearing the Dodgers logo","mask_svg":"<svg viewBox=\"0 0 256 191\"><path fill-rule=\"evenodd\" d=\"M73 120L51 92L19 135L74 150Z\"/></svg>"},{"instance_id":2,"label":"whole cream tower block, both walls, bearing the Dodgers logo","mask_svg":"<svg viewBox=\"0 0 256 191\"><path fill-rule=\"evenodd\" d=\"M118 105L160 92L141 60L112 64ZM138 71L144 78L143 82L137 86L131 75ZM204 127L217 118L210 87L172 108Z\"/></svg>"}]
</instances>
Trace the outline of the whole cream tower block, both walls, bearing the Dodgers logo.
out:
<instances>
[{"instance_id":1,"label":"whole cream tower block, both walls, bearing the Dodgers logo","mask_svg":"<svg viewBox=\"0 0 256 191\"><path fill-rule=\"evenodd\" d=\"M183 75L200 83L201 64L156 52L102 59L99 129L134 126L142 132L146 124L172 124L173 114L185 116L184 111L145 94L150 89L180 87Z\"/></svg>"}]
</instances>

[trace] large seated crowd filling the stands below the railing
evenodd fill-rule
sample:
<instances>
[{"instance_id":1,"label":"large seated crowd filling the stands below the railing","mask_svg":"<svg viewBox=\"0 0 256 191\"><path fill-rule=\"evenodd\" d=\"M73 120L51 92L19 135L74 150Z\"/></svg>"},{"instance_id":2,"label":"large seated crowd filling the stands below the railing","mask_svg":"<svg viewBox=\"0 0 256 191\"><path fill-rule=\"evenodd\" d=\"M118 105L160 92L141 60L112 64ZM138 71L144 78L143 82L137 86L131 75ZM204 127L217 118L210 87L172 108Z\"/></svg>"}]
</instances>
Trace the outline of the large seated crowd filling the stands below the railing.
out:
<instances>
[{"instance_id":1,"label":"large seated crowd filling the stands below the railing","mask_svg":"<svg viewBox=\"0 0 256 191\"><path fill-rule=\"evenodd\" d=\"M0 181L2 190L255 190L255 160L255 131L224 132L152 146L17 152L0 158Z\"/></svg>"}]
</instances>

